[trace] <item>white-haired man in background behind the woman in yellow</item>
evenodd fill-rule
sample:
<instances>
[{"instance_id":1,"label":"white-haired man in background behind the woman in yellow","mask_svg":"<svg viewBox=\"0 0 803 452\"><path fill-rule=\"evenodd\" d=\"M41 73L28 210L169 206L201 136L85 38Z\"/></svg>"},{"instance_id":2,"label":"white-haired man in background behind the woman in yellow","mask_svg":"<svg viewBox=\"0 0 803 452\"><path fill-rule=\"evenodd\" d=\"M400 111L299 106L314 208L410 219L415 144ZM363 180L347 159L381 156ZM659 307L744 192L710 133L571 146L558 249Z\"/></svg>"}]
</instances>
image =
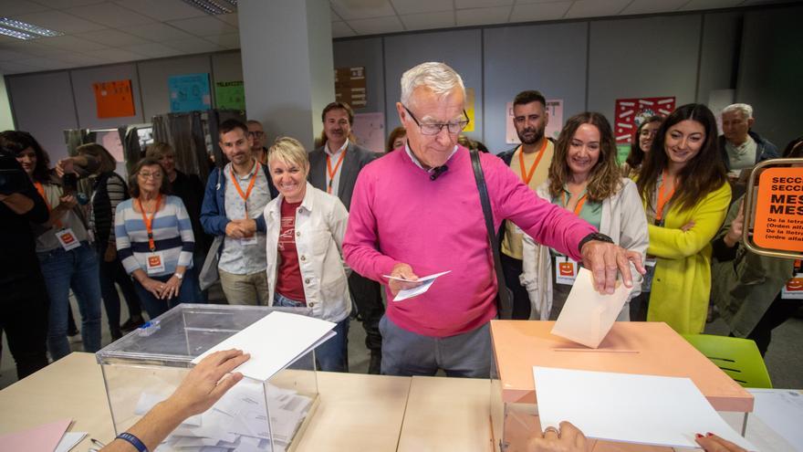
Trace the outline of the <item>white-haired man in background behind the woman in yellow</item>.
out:
<instances>
[{"instance_id":1,"label":"white-haired man in background behind the woman in yellow","mask_svg":"<svg viewBox=\"0 0 803 452\"><path fill-rule=\"evenodd\" d=\"M750 130L755 121L753 107L746 103L728 105L722 110L719 149L728 171L752 168L756 163L779 157L775 144Z\"/></svg>"}]
</instances>

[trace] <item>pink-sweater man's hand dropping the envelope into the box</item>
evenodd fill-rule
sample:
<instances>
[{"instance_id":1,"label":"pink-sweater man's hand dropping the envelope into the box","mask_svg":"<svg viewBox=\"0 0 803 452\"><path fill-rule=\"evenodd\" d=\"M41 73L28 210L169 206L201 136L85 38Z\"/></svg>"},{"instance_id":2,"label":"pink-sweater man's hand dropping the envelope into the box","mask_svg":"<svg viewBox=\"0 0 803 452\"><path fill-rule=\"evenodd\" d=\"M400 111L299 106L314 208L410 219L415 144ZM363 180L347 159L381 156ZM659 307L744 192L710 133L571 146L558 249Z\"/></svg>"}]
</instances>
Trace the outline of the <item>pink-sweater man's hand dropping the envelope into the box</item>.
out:
<instances>
[{"instance_id":1,"label":"pink-sweater man's hand dropping the envelope into the box","mask_svg":"<svg viewBox=\"0 0 803 452\"><path fill-rule=\"evenodd\" d=\"M641 263L641 253L612 243L589 240L583 245L580 254L583 257L583 267L589 268L594 275L594 289L600 293L613 293L616 289L617 273L621 273L624 285L631 288L631 262L641 275L647 272Z\"/></svg>"}]
</instances>

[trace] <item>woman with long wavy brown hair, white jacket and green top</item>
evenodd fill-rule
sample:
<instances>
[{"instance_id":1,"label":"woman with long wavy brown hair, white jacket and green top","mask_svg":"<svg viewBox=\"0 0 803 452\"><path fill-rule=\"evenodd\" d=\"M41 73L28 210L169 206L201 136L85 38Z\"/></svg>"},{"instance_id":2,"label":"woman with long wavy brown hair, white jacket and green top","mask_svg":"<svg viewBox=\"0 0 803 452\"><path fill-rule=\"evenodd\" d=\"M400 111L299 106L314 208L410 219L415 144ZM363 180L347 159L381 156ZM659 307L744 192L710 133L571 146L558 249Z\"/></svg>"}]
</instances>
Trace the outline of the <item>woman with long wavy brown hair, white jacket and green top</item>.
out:
<instances>
[{"instance_id":1,"label":"woman with long wavy brown hair, white jacket and green top","mask_svg":"<svg viewBox=\"0 0 803 452\"><path fill-rule=\"evenodd\" d=\"M647 217L636 184L620 177L617 168L609 122L599 113L579 113L561 131L549 166L549 179L537 188L537 194L573 210L620 247L640 252L643 262L649 245ZM549 247L524 236L520 280L529 294L532 319L547 321L551 314L554 320L562 308L561 304L552 312L555 289L565 297L570 288L556 286L553 262L563 258L553 254ZM576 274L576 264L573 270ZM631 275L633 290L618 321L630 320L630 300L641 293L641 274L631 268Z\"/></svg>"}]
</instances>

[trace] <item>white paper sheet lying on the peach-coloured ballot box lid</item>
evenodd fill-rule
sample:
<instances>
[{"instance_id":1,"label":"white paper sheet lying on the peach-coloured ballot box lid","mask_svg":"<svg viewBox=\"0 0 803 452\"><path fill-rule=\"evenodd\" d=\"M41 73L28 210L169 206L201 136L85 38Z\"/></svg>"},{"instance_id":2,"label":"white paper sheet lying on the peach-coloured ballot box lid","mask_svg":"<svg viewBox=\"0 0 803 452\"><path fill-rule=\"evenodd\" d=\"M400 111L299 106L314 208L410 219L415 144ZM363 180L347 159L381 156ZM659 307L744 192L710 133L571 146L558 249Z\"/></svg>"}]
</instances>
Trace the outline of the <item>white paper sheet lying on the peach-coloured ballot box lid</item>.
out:
<instances>
[{"instance_id":1,"label":"white paper sheet lying on the peach-coloured ballot box lid","mask_svg":"<svg viewBox=\"0 0 803 452\"><path fill-rule=\"evenodd\" d=\"M666 447L699 447L712 432L755 451L688 378L533 367L541 429L561 421L585 436Z\"/></svg>"}]
</instances>

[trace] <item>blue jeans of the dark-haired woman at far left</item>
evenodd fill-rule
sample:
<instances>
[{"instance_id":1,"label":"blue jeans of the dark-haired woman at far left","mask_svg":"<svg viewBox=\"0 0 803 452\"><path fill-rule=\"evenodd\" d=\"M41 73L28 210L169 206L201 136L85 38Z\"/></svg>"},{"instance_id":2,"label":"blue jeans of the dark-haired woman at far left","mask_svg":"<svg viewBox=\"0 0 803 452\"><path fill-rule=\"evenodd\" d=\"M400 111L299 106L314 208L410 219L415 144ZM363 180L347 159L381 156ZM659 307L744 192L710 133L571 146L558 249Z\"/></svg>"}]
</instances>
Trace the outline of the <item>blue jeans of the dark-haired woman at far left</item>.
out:
<instances>
[{"instance_id":1,"label":"blue jeans of the dark-haired woman at far left","mask_svg":"<svg viewBox=\"0 0 803 452\"><path fill-rule=\"evenodd\" d=\"M81 340L85 352L100 350L100 282L98 258L89 243L65 251L57 247L36 253L45 276L45 287L50 299L47 327L47 350L53 361L70 352L67 340L67 312L69 289L78 300L81 314Z\"/></svg>"}]
</instances>

